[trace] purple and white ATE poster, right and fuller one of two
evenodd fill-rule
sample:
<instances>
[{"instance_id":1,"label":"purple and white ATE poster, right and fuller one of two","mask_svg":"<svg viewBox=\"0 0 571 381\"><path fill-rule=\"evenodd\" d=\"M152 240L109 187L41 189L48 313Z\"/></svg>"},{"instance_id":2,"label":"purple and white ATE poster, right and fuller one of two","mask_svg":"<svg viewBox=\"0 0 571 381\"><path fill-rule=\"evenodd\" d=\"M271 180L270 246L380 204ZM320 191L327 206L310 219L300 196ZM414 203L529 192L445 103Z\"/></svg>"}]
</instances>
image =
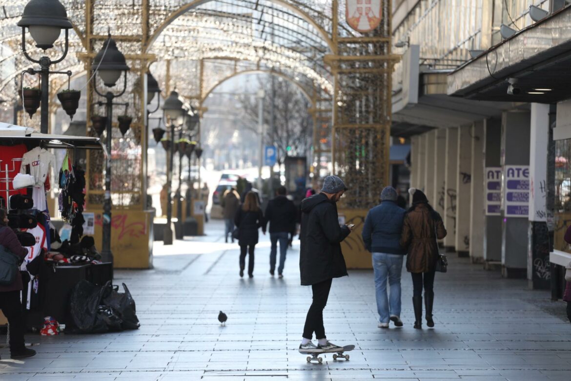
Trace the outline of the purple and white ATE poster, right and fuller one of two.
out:
<instances>
[{"instance_id":1,"label":"purple and white ATE poster, right and fuller one of two","mask_svg":"<svg viewBox=\"0 0 571 381\"><path fill-rule=\"evenodd\" d=\"M529 166L505 166L504 181L504 216L528 218Z\"/></svg>"}]
</instances>

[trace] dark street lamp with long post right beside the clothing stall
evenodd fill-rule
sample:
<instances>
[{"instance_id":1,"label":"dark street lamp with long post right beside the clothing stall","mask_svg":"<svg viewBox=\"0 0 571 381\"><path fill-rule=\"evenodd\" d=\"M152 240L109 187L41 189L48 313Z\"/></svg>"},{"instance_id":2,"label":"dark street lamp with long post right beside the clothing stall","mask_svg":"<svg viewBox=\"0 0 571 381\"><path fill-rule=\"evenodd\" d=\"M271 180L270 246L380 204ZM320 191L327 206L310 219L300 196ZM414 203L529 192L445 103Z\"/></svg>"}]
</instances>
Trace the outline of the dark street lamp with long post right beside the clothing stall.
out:
<instances>
[{"instance_id":1,"label":"dark street lamp with long post right beside the clothing stall","mask_svg":"<svg viewBox=\"0 0 571 381\"><path fill-rule=\"evenodd\" d=\"M107 111L107 152L109 156L107 157L106 170L105 170L105 199L103 203L103 244L101 256L104 262L113 262L113 254L111 252L111 121L113 118L113 99L120 97L125 93L127 89L127 71L129 67L125 61L125 56L123 53L117 49L115 41L111 38L109 34L106 41L103 43L103 47L93 60L92 67L98 71L99 77L102 79L103 83L107 87L115 86L115 83L121 76L124 75L123 90L119 94L99 93L97 89L97 81L95 76L93 76L93 88L95 93L100 97L106 99L106 111ZM120 103L124 105L124 103Z\"/></svg>"}]
</instances>

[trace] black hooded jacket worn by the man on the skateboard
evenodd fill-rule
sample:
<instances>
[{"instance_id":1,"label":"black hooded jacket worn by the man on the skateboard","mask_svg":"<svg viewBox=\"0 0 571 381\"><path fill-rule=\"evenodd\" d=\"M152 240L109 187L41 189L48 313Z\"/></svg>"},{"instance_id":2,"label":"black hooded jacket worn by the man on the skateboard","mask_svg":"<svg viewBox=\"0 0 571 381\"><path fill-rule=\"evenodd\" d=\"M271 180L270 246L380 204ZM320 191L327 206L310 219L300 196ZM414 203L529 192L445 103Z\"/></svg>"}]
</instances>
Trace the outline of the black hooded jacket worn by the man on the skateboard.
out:
<instances>
[{"instance_id":1,"label":"black hooded jacket worn by the man on the skateboard","mask_svg":"<svg viewBox=\"0 0 571 381\"><path fill-rule=\"evenodd\" d=\"M299 270L302 286L347 275L341 241L350 232L347 226L339 226L337 206L323 193L301 201Z\"/></svg>"}]
</instances>

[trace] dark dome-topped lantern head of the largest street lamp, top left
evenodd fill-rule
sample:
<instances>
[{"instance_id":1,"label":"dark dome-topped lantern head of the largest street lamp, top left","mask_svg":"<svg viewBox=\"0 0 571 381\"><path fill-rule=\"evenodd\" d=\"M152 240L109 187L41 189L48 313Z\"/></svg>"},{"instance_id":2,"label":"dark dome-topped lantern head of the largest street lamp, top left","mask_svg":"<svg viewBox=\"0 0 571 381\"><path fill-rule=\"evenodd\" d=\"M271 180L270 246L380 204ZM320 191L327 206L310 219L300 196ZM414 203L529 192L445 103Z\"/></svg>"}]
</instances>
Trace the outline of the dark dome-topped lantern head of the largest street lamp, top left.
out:
<instances>
[{"instance_id":1,"label":"dark dome-topped lantern head of the largest street lamp, top left","mask_svg":"<svg viewBox=\"0 0 571 381\"><path fill-rule=\"evenodd\" d=\"M24 7L18 26L27 28L36 46L46 50L54 46L62 29L73 26L67 18L67 12L58 0L31 0Z\"/></svg>"}]
</instances>

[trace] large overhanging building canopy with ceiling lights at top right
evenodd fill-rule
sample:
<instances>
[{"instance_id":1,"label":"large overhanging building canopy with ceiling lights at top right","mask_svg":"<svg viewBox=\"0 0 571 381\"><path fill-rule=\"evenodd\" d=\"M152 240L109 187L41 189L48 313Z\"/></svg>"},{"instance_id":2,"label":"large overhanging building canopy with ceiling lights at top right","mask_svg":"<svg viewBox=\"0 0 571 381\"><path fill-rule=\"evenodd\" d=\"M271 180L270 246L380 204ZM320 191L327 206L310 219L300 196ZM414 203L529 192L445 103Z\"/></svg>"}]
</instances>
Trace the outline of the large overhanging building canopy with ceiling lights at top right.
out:
<instances>
[{"instance_id":1,"label":"large overhanging building canopy with ceiling lights at top right","mask_svg":"<svg viewBox=\"0 0 571 381\"><path fill-rule=\"evenodd\" d=\"M453 71L448 95L496 102L554 103L571 98L569 25L568 6L518 31ZM520 94L508 94L508 78L517 79L514 87Z\"/></svg>"}]
</instances>

